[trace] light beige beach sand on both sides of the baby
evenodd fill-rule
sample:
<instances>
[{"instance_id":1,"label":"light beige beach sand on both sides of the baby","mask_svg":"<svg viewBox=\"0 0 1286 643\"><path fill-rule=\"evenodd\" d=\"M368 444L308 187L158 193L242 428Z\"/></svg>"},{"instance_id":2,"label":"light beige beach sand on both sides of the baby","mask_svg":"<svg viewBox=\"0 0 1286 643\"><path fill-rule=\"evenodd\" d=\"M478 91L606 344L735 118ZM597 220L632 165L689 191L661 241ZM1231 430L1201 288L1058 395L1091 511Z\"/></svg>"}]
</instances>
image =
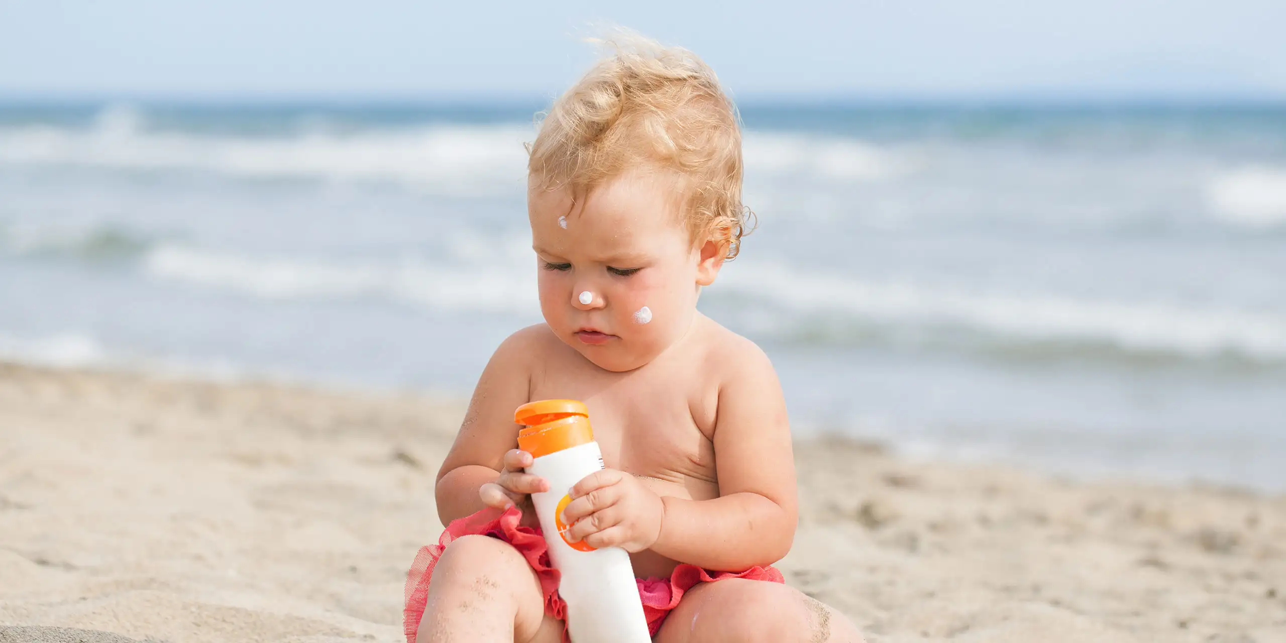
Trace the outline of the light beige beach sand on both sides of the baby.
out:
<instances>
[{"instance_id":1,"label":"light beige beach sand on both sides of the baby","mask_svg":"<svg viewBox=\"0 0 1286 643\"><path fill-rule=\"evenodd\" d=\"M401 640L462 413L0 364L0 642ZM844 441L797 462L779 567L872 642L1286 642L1283 496Z\"/></svg>"}]
</instances>

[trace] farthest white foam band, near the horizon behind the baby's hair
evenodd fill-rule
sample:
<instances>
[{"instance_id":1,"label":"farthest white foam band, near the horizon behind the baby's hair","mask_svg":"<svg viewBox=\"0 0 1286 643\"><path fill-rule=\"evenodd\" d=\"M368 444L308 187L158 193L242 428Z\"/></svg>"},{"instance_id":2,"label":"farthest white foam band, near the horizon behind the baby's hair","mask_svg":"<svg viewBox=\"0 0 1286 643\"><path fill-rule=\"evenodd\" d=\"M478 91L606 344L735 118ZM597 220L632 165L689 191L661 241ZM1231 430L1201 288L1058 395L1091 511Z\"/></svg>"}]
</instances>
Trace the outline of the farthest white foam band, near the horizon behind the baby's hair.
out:
<instances>
[{"instance_id":1,"label":"farthest white foam band, near the horizon behind the baby's hair","mask_svg":"<svg viewBox=\"0 0 1286 643\"><path fill-rule=\"evenodd\" d=\"M144 113L104 109L89 129L0 129L0 165L199 171L260 179L386 181L448 194L521 189L530 125L419 125L274 135L159 131ZM851 138L750 131L747 170L759 176L876 181L912 168L905 156Z\"/></svg>"}]
</instances>

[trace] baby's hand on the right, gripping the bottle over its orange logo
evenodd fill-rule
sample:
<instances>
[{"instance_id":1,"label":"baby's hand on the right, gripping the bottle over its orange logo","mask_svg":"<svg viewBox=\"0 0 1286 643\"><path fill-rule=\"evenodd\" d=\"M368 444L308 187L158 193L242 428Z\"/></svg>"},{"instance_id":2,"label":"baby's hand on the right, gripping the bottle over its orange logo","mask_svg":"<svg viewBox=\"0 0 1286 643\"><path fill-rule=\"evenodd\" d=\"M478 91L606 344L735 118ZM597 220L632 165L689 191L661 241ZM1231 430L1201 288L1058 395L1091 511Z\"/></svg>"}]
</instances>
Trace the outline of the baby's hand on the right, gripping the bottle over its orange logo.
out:
<instances>
[{"instance_id":1,"label":"baby's hand on the right, gripping the bottle over its orange logo","mask_svg":"<svg viewBox=\"0 0 1286 643\"><path fill-rule=\"evenodd\" d=\"M572 500L563 509L571 525L567 540L584 540L594 548L620 547L642 552L661 538L665 504L638 478L617 469L603 469L571 487Z\"/></svg>"}]
</instances>

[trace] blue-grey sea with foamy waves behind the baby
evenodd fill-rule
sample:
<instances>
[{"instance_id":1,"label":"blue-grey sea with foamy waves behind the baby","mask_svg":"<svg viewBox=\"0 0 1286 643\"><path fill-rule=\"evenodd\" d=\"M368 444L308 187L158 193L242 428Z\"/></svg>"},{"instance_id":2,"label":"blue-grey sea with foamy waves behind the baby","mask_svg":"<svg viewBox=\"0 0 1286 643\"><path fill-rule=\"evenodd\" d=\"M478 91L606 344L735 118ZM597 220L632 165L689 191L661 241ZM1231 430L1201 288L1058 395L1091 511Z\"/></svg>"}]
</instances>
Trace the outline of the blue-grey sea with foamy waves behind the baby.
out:
<instances>
[{"instance_id":1,"label":"blue-grey sea with foamy waves behind the baby","mask_svg":"<svg viewBox=\"0 0 1286 643\"><path fill-rule=\"evenodd\" d=\"M0 105L0 359L467 395L541 105ZM1286 490L1286 105L747 103L795 433Z\"/></svg>"}]
</instances>

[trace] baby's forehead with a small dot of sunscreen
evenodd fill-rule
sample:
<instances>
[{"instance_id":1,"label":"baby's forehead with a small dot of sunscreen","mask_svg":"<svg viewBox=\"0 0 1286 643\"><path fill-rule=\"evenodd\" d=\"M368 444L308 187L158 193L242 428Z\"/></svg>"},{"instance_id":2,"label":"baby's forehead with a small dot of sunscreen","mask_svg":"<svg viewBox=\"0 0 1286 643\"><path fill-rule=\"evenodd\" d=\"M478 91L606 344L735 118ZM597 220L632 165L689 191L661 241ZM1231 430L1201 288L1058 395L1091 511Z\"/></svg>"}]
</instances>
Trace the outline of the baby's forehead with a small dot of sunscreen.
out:
<instances>
[{"instance_id":1,"label":"baby's forehead with a small dot of sunscreen","mask_svg":"<svg viewBox=\"0 0 1286 643\"><path fill-rule=\"evenodd\" d=\"M529 192L535 246L566 253L633 252L640 246L687 235L679 217L675 181L657 174L633 172L598 185L580 198L571 189ZM566 217L567 228L559 225Z\"/></svg>"}]
</instances>

